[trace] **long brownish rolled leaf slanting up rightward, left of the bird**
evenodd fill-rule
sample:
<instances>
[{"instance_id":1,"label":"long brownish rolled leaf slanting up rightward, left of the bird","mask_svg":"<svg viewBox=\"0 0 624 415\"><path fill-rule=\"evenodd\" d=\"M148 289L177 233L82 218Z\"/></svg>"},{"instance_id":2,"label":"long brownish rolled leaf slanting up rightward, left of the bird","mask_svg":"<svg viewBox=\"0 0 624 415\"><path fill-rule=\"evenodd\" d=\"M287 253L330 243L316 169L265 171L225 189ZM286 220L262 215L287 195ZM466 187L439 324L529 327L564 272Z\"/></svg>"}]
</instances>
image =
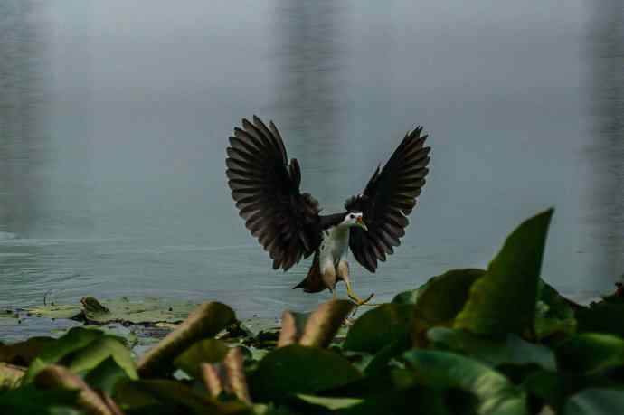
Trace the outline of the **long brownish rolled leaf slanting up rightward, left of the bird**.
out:
<instances>
[{"instance_id":1,"label":"long brownish rolled leaf slanting up rightward, left of the bird","mask_svg":"<svg viewBox=\"0 0 624 415\"><path fill-rule=\"evenodd\" d=\"M234 320L232 308L222 303L203 303L195 308L182 325L167 335L138 361L141 377L155 377L171 370L178 354L197 340L213 337Z\"/></svg>"}]
</instances>

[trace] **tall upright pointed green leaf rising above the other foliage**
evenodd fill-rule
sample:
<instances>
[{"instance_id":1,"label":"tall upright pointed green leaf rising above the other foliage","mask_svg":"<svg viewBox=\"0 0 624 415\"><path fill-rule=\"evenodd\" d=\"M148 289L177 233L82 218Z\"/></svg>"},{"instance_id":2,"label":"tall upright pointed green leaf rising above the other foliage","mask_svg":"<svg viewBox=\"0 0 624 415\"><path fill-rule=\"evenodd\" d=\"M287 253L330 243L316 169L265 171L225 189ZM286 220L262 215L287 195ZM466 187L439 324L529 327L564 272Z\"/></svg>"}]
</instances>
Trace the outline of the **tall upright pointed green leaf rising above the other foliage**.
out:
<instances>
[{"instance_id":1,"label":"tall upright pointed green leaf rising above the other foliage","mask_svg":"<svg viewBox=\"0 0 624 415\"><path fill-rule=\"evenodd\" d=\"M553 209L523 222L509 235L486 274L470 288L456 328L482 335L533 331L537 288Z\"/></svg>"}]
</instances>

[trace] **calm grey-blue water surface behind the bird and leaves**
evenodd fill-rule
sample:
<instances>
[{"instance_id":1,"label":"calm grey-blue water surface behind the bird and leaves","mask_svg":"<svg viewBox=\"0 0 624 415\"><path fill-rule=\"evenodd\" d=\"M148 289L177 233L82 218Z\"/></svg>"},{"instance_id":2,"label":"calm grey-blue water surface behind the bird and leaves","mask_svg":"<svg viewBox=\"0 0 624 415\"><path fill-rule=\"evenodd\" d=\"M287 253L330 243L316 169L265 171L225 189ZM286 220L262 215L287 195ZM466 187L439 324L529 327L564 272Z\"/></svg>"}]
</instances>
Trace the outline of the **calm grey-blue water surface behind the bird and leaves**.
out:
<instances>
[{"instance_id":1,"label":"calm grey-blue water surface behind the bird and leaves","mask_svg":"<svg viewBox=\"0 0 624 415\"><path fill-rule=\"evenodd\" d=\"M339 210L422 124L431 172L404 243L355 289L388 299L485 267L555 206L544 278L624 270L619 1L0 3L0 307L97 297L307 309L224 176L241 117L272 118L303 188Z\"/></svg>"}]
</instances>

